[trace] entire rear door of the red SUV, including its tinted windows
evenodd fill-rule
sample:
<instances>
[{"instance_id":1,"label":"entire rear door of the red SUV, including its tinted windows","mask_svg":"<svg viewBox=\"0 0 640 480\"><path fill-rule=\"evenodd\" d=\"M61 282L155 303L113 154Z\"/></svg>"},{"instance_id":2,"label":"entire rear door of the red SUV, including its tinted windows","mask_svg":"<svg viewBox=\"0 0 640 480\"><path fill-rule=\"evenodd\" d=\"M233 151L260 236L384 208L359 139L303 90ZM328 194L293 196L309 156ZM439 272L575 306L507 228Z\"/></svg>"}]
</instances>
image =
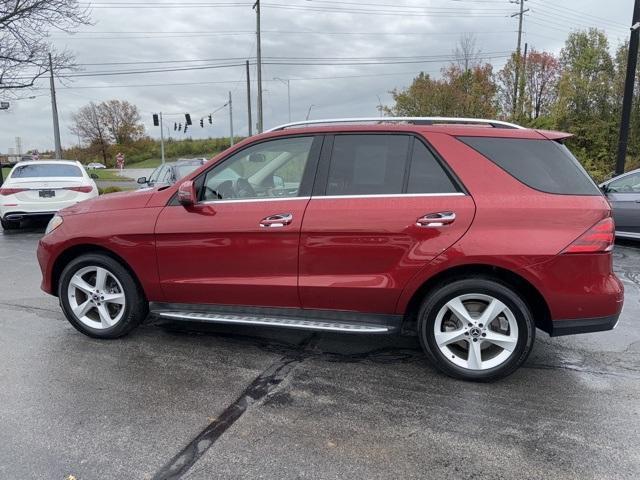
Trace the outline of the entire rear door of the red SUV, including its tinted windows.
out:
<instances>
[{"instance_id":1,"label":"entire rear door of the red SUV, including its tinted windows","mask_svg":"<svg viewBox=\"0 0 640 480\"><path fill-rule=\"evenodd\" d=\"M302 306L394 313L405 284L464 234L474 211L424 139L327 136L302 224Z\"/></svg>"}]
</instances>

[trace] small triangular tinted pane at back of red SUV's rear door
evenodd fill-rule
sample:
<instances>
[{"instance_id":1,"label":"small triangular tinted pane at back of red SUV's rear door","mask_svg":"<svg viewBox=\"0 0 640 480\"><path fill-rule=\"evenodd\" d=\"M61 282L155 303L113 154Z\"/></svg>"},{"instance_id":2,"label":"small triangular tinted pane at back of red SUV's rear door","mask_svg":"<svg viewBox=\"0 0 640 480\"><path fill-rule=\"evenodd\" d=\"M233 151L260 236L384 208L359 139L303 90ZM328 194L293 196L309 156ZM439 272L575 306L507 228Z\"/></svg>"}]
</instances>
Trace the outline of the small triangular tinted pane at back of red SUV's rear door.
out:
<instances>
[{"instance_id":1,"label":"small triangular tinted pane at back of red SUV's rear door","mask_svg":"<svg viewBox=\"0 0 640 480\"><path fill-rule=\"evenodd\" d=\"M416 140L411 155L407 193L454 193L459 191L427 146Z\"/></svg>"}]
</instances>

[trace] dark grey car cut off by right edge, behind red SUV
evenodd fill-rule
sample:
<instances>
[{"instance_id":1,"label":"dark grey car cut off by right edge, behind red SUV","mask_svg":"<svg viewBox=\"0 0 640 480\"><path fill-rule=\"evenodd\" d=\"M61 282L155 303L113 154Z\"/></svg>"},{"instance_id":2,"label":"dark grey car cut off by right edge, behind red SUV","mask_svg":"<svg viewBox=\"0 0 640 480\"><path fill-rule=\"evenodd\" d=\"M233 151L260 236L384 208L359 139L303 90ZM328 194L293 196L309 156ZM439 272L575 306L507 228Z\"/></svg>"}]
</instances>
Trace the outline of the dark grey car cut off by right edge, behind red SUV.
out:
<instances>
[{"instance_id":1,"label":"dark grey car cut off by right edge, behind red SUV","mask_svg":"<svg viewBox=\"0 0 640 480\"><path fill-rule=\"evenodd\" d=\"M629 173L607 184L616 231L640 235L640 172Z\"/></svg>"}]
</instances>

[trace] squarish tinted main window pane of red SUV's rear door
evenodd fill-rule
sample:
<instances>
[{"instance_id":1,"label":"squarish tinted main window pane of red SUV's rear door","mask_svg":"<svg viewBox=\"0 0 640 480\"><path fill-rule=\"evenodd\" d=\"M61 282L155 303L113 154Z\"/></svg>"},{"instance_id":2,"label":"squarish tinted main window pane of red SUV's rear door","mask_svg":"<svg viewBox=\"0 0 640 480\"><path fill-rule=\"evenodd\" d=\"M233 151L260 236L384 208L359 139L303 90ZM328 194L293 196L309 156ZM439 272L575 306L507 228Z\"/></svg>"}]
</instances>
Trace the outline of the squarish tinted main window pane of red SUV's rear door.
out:
<instances>
[{"instance_id":1,"label":"squarish tinted main window pane of red SUV's rear door","mask_svg":"<svg viewBox=\"0 0 640 480\"><path fill-rule=\"evenodd\" d=\"M402 193L408 135L336 135L327 195Z\"/></svg>"}]
</instances>

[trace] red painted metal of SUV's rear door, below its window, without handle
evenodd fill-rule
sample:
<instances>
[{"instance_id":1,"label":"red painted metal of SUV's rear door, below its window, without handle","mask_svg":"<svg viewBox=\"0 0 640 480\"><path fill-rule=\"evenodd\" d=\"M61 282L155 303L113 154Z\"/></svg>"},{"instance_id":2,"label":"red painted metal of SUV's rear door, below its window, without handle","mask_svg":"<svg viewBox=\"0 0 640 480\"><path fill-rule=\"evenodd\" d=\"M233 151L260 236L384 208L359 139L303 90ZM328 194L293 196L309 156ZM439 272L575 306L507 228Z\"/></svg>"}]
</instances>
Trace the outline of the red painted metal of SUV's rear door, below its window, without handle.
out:
<instances>
[{"instance_id":1,"label":"red painted metal of SUV's rear door, below its window, without handle","mask_svg":"<svg viewBox=\"0 0 640 480\"><path fill-rule=\"evenodd\" d=\"M425 229L425 214L455 211L446 229ZM304 308L395 313L407 282L467 231L468 195L312 198L300 239Z\"/></svg>"}]
</instances>

